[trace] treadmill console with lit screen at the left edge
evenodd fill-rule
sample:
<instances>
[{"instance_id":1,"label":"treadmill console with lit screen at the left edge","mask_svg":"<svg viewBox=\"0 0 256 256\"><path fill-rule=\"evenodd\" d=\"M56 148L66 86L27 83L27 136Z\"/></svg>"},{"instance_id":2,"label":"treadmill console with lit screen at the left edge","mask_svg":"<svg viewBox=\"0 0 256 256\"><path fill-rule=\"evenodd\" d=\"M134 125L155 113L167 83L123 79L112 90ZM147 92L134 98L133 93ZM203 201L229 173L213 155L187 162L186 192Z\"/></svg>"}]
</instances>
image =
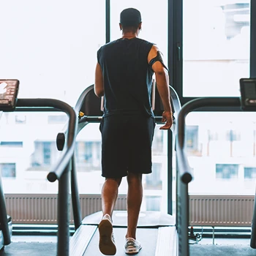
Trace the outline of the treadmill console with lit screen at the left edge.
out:
<instances>
[{"instance_id":1,"label":"treadmill console with lit screen at the left edge","mask_svg":"<svg viewBox=\"0 0 256 256\"><path fill-rule=\"evenodd\" d=\"M0 79L0 111L14 111L17 103L19 80Z\"/></svg>"}]
</instances>

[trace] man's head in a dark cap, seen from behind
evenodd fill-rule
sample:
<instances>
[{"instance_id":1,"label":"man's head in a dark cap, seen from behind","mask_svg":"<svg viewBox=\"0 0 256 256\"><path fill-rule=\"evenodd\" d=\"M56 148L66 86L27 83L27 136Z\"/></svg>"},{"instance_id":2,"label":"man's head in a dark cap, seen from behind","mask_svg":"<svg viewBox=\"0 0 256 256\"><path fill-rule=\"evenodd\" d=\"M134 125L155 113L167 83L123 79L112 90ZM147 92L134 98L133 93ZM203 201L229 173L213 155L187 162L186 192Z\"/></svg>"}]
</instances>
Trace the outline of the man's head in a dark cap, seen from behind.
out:
<instances>
[{"instance_id":1,"label":"man's head in a dark cap, seen from behind","mask_svg":"<svg viewBox=\"0 0 256 256\"><path fill-rule=\"evenodd\" d=\"M134 8L123 10L120 14L119 26L123 31L132 31L135 33L141 28L140 12Z\"/></svg>"}]
</instances>

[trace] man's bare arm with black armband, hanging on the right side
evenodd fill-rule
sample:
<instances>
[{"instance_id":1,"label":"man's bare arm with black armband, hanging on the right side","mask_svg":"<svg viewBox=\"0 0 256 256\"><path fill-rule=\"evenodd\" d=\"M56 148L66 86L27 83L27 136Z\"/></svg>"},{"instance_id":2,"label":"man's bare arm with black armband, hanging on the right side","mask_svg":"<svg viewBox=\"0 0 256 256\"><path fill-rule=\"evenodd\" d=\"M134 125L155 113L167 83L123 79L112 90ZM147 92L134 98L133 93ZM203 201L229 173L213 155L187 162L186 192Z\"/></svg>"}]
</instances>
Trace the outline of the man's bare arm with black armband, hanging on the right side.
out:
<instances>
[{"instance_id":1,"label":"man's bare arm with black armband, hanging on the right side","mask_svg":"<svg viewBox=\"0 0 256 256\"><path fill-rule=\"evenodd\" d=\"M157 56L158 51L159 48L153 45L148 53L148 64ZM164 113L162 113L162 122L166 121L166 124L160 127L160 129L169 129L173 124L173 113L170 105L169 76L161 61L154 62L152 69L156 75L157 90L165 110Z\"/></svg>"}]
</instances>

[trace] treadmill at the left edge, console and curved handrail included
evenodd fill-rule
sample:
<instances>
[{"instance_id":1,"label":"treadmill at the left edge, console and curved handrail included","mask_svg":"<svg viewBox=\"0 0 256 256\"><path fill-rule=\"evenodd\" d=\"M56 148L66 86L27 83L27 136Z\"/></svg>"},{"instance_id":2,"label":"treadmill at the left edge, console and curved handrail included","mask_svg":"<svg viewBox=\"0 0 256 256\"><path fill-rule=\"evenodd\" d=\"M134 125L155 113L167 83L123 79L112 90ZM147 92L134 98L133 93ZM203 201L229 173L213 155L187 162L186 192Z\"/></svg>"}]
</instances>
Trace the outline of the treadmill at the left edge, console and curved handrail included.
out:
<instances>
[{"instance_id":1,"label":"treadmill at the left edge, console and curved handrail included","mask_svg":"<svg viewBox=\"0 0 256 256\"><path fill-rule=\"evenodd\" d=\"M67 124L67 150L64 151L64 156L61 158L61 163L53 167L55 175L60 177L59 182L59 206L62 206L62 202L66 200L67 195L63 195L63 191L67 189L69 185L69 179L67 178L69 165L69 159L75 149L75 131L78 125L78 118L75 114L75 110L69 106L66 102L62 102L58 99L18 99L19 80L16 79L0 79L0 115L1 112L12 111L61 111L67 113L69 121ZM64 199L63 199L64 198ZM65 201L66 202L66 201ZM66 211L63 211L64 217ZM59 219L62 215L59 214ZM65 220L65 219L64 219ZM7 208L4 198L4 190L1 183L0 173L0 249L4 249L4 246L11 244L12 237L12 219L7 216ZM9 254L8 254L9 255Z\"/></svg>"}]
</instances>

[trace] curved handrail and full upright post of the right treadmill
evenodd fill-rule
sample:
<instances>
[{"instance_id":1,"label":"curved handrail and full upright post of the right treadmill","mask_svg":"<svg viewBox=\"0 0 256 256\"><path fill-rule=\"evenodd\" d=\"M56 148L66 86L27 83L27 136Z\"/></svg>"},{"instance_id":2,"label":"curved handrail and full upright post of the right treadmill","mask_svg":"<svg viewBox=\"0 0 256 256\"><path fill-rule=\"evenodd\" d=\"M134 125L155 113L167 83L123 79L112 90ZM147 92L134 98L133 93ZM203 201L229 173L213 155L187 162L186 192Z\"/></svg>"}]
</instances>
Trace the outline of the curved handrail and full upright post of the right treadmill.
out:
<instances>
[{"instance_id":1,"label":"curved handrail and full upright post of the right treadmill","mask_svg":"<svg viewBox=\"0 0 256 256\"><path fill-rule=\"evenodd\" d=\"M193 110L207 107L233 107L240 106L238 97L206 97L192 99L185 104L178 113L178 135L176 140L177 151L177 222L178 227L178 251L179 255L189 255L189 240L187 236L187 228L189 227L189 191L188 184L192 181L193 172L189 166L186 148L185 148L185 118L188 113Z\"/></svg>"}]
</instances>

